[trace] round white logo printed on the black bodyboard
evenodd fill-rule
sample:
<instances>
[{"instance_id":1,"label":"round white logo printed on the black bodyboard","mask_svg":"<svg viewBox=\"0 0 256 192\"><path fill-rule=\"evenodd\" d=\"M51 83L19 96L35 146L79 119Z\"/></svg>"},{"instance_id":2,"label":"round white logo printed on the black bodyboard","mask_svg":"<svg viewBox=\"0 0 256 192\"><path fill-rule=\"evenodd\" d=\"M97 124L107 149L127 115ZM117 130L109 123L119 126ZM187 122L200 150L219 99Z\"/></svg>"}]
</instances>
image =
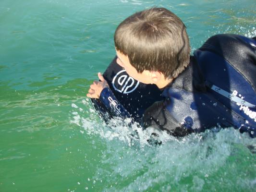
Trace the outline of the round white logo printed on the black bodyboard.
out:
<instances>
[{"instance_id":1,"label":"round white logo printed on the black bodyboard","mask_svg":"<svg viewBox=\"0 0 256 192\"><path fill-rule=\"evenodd\" d=\"M116 73L112 80L114 89L124 94L132 93L138 87L139 83L139 81L127 75L125 70Z\"/></svg>"}]
</instances>

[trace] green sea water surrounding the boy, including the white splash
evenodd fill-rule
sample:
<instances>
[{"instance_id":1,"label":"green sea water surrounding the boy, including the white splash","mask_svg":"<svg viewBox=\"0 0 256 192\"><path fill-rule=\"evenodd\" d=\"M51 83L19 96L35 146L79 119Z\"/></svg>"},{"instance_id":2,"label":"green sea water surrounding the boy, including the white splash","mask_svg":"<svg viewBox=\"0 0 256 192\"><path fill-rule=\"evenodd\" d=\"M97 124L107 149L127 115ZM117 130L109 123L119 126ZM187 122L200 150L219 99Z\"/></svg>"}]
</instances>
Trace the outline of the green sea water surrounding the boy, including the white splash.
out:
<instances>
[{"instance_id":1,"label":"green sea water surrounding the boy, including the white splash","mask_svg":"<svg viewBox=\"0 0 256 192\"><path fill-rule=\"evenodd\" d=\"M182 18L193 50L218 33L256 36L255 0L0 1L0 192L254 191L246 134L162 133L153 147L93 112L85 95L115 28L152 6Z\"/></svg>"}]
</instances>

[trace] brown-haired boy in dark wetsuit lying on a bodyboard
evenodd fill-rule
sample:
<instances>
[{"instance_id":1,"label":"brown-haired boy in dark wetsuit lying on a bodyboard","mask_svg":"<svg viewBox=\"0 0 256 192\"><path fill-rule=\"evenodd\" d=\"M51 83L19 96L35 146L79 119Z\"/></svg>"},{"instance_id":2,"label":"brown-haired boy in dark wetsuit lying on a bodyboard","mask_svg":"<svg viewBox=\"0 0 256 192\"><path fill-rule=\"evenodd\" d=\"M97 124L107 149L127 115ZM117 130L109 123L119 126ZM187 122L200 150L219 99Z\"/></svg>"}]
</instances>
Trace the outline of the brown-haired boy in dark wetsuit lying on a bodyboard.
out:
<instances>
[{"instance_id":1,"label":"brown-haired boy in dark wetsuit lying on a bodyboard","mask_svg":"<svg viewBox=\"0 0 256 192\"><path fill-rule=\"evenodd\" d=\"M144 112L146 128L174 136L234 127L256 136L256 41L217 35L190 56L185 25L165 8L125 19L116 29L116 62L135 80L162 89L163 101ZM98 73L87 96L100 98L118 116L130 117Z\"/></svg>"}]
</instances>

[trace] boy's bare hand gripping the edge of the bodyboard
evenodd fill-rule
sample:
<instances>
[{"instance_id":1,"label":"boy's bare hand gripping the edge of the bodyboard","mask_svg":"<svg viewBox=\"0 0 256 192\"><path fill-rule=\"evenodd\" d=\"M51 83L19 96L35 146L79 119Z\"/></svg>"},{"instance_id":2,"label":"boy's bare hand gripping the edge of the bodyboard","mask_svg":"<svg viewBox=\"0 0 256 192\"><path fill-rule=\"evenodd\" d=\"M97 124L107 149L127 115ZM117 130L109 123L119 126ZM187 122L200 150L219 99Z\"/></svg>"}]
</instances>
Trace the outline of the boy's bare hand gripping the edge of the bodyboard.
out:
<instances>
[{"instance_id":1,"label":"boy's bare hand gripping the edge of the bodyboard","mask_svg":"<svg viewBox=\"0 0 256 192\"><path fill-rule=\"evenodd\" d=\"M93 84L90 85L90 89L86 96L88 96L90 98L99 98L101 91L105 87L109 87L109 84L104 79L102 74L100 74L100 72L98 73L98 78L100 81L94 81Z\"/></svg>"}]
</instances>

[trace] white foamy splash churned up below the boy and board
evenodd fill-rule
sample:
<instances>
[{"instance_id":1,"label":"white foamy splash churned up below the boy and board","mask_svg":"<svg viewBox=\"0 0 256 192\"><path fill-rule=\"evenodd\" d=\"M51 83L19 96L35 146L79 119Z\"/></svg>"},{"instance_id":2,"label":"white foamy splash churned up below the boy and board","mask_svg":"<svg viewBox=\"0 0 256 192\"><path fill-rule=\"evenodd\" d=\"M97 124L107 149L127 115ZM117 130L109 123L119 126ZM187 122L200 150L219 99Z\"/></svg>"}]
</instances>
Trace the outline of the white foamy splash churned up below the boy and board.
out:
<instances>
[{"instance_id":1,"label":"white foamy splash churned up below the boy and board","mask_svg":"<svg viewBox=\"0 0 256 192\"><path fill-rule=\"evenodd\" d=\"M73 113L73 120L79 119L79 113ZM152 145L148 143L155 132L152 128L124 126L120 119L106 125L97 119L96 114L90 118L80 114L79 125L86 134L106 141L102 166L93 178L103 180L103 191L251 191L256 187L256 157L247 147L256 144L246 133L216 128L175 138L157 132L162 144Z\"/></svg>"}]
</instances>

